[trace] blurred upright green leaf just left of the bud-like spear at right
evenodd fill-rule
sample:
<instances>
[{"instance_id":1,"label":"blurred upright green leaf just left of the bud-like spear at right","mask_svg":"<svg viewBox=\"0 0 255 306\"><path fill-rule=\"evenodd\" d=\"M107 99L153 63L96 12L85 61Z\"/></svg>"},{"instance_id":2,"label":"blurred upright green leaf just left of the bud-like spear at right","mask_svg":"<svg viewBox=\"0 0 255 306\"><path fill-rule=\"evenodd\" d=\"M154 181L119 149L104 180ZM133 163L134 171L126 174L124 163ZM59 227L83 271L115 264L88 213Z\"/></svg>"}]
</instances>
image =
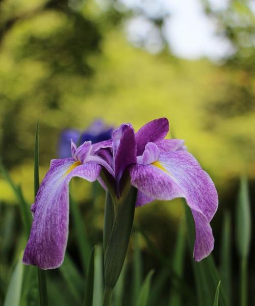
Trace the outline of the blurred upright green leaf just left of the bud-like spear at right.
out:
<instances>
[{"instance_id":1,"label":"blurred upright green leaf just left of the bud-like spear at right","mask_svg":"<svg viewBox=\"0 0 255 306\"><path fill-rule=\"evenodd\" d=\"M232 305L231 294L231 216L230 212L224 214L223 228L221 234L221 251L220 251L220 272L222 284L224 284L227 298L227 305Z\"/></svg>"}]
</instances>

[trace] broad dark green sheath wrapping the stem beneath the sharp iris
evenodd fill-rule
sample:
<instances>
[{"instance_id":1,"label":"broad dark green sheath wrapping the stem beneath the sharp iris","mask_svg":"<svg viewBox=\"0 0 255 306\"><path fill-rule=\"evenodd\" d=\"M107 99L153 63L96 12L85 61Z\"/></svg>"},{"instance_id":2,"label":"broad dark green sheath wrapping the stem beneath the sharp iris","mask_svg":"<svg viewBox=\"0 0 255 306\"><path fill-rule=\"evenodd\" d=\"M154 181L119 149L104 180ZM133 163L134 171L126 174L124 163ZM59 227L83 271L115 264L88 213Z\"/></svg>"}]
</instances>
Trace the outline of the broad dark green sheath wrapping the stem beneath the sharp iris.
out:
<instances>
[{"instance_id":1,"label":"broad dark green sheath wrapping the stem beneath the sharp iris","mask_svg":"<svg viewBox=\"0 0 255 306\"><path fill-rule=\"evenodd\" d=\"M134 222L137 189L133 186L120 202L105 254L105 284L114 288L119 278Z\"/></svg>"}]
</instances>

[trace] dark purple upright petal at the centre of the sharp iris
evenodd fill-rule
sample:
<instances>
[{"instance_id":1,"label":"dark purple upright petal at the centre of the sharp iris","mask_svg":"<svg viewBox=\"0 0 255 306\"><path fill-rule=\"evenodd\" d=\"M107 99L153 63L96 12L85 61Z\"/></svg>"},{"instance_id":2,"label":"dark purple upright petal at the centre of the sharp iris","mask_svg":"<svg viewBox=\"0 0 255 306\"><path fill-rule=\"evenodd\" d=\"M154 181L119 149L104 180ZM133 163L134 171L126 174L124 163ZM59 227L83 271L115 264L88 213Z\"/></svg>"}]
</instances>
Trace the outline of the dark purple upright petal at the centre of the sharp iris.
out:
<instances>
[{"instance_id":1,"label":"dark purple upright petal at the centre of the sharp iris","mask_svg":"<svg viewBox=\"0 0 255 306\"><path fill-rule=\"evenodd\" d=\"M135 132L131 124L122 124L112 133L113 167L118 183L125 168L136 163Z\"/></svg>"}]
</instances>

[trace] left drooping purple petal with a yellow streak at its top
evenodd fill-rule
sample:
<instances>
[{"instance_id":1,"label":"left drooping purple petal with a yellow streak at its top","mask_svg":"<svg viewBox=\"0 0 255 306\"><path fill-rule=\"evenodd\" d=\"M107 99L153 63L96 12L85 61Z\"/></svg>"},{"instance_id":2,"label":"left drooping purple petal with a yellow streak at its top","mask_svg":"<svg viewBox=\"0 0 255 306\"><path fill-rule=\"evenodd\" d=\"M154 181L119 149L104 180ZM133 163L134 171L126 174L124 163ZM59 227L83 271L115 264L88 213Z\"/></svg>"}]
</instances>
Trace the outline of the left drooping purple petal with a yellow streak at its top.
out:
<instances>
[{"instance_id":1,"label":"left drooping purple petal with a yellow streak at its top","mask_svg":"<svg viewBox=\"0 0 255 306\"><path fill-rule=\"evenodd\" d=\"M32 207L34 220L24 251L24 264L41 269L62 264L68 237L69 182L73 176L93 182L100 170L98 164L82 165L72 158L52 161Z\"/></svg>"}]
</instances>

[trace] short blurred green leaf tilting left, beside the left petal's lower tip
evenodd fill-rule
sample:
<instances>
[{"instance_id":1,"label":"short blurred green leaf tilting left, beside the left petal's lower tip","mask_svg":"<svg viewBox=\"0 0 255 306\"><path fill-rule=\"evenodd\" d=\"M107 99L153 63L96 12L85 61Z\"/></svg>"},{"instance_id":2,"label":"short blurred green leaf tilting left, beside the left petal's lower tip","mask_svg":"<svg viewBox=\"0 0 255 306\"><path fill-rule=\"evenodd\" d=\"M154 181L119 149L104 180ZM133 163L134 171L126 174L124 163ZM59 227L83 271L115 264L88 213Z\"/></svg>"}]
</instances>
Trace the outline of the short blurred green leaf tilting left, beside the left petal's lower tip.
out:
<instances>
[{"instance_id":1,"label":"short blurred green leaf tilting left, beside the left petal's lower tip","mask_svg":"<svg viewBox=\"0 0 255 306\"><path fill-rule=\"evenodd\" d=\"M77 304L81 304L84 280L68 253L65 254L64 262L59 267L59 270L66 282L70 295Z\"/></svg>"}]
</instances>

